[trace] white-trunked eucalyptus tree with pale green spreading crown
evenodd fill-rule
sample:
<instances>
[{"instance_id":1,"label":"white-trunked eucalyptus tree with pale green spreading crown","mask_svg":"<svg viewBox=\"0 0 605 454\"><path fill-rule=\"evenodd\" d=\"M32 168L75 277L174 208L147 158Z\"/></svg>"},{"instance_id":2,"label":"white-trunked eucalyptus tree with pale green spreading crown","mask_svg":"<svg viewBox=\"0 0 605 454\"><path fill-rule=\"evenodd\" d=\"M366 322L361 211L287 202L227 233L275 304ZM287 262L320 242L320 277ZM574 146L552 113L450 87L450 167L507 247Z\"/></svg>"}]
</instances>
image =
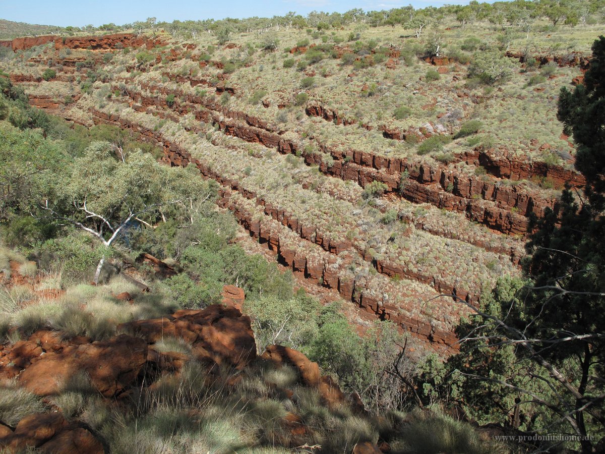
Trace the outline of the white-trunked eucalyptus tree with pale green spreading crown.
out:
<instances>
[{"instance_id":1,"label":"white-trunked eucalyptus tree with pale green spreading crown","mask_svg":"<svg viewBox=\"0 0 605 454\"><path fill-rule=\"evenodd\" d=\"M192 172L162 165L140 150L117 157L111 143L93 142L49 183L39 208L57 222L82 229L108 249L130 226L157 225L166 220L164 211L170 207L190 214L200 198L208 198L208 184ZM105 257L103 252L95 283Z\"/></svg>"}]
</instances>

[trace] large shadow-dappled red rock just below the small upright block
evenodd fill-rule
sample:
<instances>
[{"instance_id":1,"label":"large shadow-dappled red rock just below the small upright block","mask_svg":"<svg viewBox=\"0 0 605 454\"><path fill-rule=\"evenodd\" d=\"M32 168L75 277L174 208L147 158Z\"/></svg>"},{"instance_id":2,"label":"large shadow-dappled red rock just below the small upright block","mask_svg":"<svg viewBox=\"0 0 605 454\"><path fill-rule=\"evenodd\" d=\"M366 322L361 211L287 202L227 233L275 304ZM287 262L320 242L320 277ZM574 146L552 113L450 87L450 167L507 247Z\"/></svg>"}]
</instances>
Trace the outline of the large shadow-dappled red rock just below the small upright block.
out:
<instances>
[{"instance_id":1,"label":"large shadow-dappled red rock just below the small upright block","mask_svg":"<svg viewBox=\"0 0 605 454\"><path fill-rule=\"evenodd\" d=\"M250 318L234 307L215 304L203 310L181 310L167 317L125 323L119 329L134 332L148 343L164 337L182 338L199 360L244 367L256 358Z\"/></svg>"}]
</instances>

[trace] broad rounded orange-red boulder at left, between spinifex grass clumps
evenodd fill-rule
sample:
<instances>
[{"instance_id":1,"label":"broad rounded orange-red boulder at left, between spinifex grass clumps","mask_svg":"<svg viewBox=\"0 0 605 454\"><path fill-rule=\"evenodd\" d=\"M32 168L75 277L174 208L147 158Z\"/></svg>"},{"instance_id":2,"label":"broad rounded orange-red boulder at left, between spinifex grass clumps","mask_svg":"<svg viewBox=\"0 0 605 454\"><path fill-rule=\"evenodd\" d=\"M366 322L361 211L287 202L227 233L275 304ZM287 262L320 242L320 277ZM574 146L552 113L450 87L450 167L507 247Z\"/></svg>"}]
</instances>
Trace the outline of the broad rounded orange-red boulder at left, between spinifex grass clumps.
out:
<instances>
[{"instance_id":1,"label":"broad rounded orange-red boulder at left, between spinifex grass clumps","mask_svg":"<svg viewBox=\"0 0 605 454\"><path fill-rule=\"evenodd\" d=\"M47 353L21 372L19 383L38 395L54 395L70 377L85 371L102 395L113 396L137 378L146 358L144 340L120 335Z\"/></svg>"}]
</instances>

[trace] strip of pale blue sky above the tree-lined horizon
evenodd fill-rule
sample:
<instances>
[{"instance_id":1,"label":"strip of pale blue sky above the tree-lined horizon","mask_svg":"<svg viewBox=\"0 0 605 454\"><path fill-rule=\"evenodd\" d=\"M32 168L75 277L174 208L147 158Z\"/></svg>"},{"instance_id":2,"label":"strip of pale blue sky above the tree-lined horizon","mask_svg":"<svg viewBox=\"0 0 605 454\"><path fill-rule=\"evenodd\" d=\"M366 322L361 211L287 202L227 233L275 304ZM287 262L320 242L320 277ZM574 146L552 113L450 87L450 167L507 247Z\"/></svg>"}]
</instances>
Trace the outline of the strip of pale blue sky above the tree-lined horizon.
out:
<instances>
[{"instance_id":1,"label":"strip of pale blue sky above the tree-lined horizon","mask_svg":"<svg viewBox=\"0 0 605 454\"><path fill-rule=\"evenodd\" d=\"M29 22L30 24L95 26L122 25L134 21L145 21L155 17L158 21L172 22L191 19L247 18L250 16L270 17L295 11L305 15L313 10L345 12L351 8L384 10L408 4L416 8L444 3L467 4L468 0L0 0L0 19Z\"/></svg>"}]
</instances>

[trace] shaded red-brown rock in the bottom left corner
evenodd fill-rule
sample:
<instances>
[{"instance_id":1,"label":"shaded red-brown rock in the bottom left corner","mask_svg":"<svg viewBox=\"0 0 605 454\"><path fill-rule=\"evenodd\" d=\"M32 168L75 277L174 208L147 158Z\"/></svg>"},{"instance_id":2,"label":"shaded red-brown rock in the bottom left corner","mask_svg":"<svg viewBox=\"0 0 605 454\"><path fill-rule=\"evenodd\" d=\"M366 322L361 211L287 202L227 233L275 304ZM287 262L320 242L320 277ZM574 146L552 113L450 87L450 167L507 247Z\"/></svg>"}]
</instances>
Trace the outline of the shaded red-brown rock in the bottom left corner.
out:
<instances>
[{"instance_id":1,"label":"shaded red-brown rock in the bottom left corner","mask_svg":"<svg viewBox=\"0 0 605 454\"><path fill-rule=\"evenodd\" d=\"M2 426L6 427L6 426ZM2 452L37 448L48 454L102 454L103 445L83 427L69 424L61 413L34 413L19 421L15 432L0 432Z\"/></svg>"}]
</instances>

